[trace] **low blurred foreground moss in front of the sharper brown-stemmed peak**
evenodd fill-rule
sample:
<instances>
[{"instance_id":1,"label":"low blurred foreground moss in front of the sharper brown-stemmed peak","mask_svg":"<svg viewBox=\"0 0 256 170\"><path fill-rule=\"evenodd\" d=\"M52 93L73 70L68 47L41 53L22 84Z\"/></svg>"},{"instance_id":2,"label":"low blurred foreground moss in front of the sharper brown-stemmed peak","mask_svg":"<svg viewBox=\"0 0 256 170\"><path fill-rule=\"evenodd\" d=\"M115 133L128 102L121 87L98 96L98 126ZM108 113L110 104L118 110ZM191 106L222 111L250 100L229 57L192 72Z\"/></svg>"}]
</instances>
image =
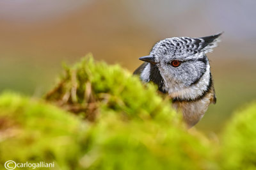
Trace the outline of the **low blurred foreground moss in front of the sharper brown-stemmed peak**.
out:
<instances>
[{"instance_id":1,"label":"low blurred foreground moss in front of the sharper brown-stemmed peak","mask_svg":"<svg viewBox=\"0 0 256 170\"><path fill-rule=\"evenodd\" d=\"M54 161L54 169L216 166L207 139L163 121L127 121L108 112L89 123L43 101L10 93L0 96L0 120L1 166L6 160Z\"/></svg>"}]
</instances>

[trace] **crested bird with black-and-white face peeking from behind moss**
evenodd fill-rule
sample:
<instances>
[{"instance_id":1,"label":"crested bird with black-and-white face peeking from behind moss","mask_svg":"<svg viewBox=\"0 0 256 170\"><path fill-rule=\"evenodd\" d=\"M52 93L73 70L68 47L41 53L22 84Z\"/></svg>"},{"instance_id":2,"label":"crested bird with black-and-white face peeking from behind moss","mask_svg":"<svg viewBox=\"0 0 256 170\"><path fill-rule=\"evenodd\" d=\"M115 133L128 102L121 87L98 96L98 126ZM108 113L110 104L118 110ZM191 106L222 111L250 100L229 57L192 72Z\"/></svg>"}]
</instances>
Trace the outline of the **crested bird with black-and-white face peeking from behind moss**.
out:
<instances>
[{"instance_id":1,"label":"crested bird with black-and-white face peeking from behind moss","mask_svg":"<svg viewBox=\"0 0 256 170\"><path fill-rule=\"evenodd\" d=\"M188 128L198 123L210 104L216 104L207 52L220 42L222 33L201 38L173 37L160 40L134 75L143 82L153 82L172 100L172 107L182 113Z\"/></svg>"}]
</instances>

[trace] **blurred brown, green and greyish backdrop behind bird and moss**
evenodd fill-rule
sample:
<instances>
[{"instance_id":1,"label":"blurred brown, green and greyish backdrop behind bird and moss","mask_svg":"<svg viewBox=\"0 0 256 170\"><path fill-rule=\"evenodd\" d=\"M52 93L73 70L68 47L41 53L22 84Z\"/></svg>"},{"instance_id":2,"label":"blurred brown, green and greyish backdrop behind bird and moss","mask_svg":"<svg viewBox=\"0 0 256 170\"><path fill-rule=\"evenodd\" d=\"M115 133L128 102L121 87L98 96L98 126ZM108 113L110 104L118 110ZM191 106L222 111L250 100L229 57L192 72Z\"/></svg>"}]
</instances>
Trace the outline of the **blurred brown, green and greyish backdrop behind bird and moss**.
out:
<instances>
[{"instance_id":1,"label":"blurred brown, green and greyish backdrop behind bird and moss","mask_svg":"<svg viewBox=\"0 0 256 170\"><path fill-rule=\"evenodd\" d=\"M218 134L256 99L256 1L0 1L0 91L42 96L88 52L131 72L154 43L224 31L208 54L217 104L196 128Z\"/></svg>"}]
</instances>

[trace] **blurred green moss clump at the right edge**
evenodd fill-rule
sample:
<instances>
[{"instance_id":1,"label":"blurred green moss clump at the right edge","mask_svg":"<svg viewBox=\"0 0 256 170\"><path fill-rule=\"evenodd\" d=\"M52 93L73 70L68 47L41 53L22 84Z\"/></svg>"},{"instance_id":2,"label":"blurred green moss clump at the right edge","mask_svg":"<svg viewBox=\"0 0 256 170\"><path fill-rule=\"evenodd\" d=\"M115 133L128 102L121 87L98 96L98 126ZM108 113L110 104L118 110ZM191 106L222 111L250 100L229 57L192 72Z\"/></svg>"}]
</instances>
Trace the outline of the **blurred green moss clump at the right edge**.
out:
<instances>
[{"instance_id":1,"label":"blurred green moss clump at the right edge","mask_svg":"<svg viewBox=\"0 0 256 170\"><path fill-rule=\"evenodd\" d=\"M223 169L256 169L256 102L236 112L223 132Z\"/></svg>"}]
</instances>

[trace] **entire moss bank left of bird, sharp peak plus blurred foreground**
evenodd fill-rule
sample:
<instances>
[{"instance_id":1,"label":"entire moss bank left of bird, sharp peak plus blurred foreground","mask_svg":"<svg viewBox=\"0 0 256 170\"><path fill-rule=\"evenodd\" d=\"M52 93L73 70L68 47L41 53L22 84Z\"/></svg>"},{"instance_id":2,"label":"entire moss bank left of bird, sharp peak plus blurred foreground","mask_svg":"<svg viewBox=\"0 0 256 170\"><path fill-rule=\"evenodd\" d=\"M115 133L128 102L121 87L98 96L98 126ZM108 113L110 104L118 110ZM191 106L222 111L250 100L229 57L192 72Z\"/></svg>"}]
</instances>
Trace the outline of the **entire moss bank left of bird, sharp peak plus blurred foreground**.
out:
<instances>
[{"instance_id":1,"label":"entire moss bank left of bird, sharp peak plus blurred foreground","mask_svg":"<svg viewBox=\"0 0 256 170\"><path fill-rule=\"evenodd\" d=\"M54 169L218 168L212 143L187 132L168 98L120 66L84 58L66 66L45 98L70 112L12 93L0 96L1 166L14 160L55 161Z\"/></svg>"}]
</instances>

